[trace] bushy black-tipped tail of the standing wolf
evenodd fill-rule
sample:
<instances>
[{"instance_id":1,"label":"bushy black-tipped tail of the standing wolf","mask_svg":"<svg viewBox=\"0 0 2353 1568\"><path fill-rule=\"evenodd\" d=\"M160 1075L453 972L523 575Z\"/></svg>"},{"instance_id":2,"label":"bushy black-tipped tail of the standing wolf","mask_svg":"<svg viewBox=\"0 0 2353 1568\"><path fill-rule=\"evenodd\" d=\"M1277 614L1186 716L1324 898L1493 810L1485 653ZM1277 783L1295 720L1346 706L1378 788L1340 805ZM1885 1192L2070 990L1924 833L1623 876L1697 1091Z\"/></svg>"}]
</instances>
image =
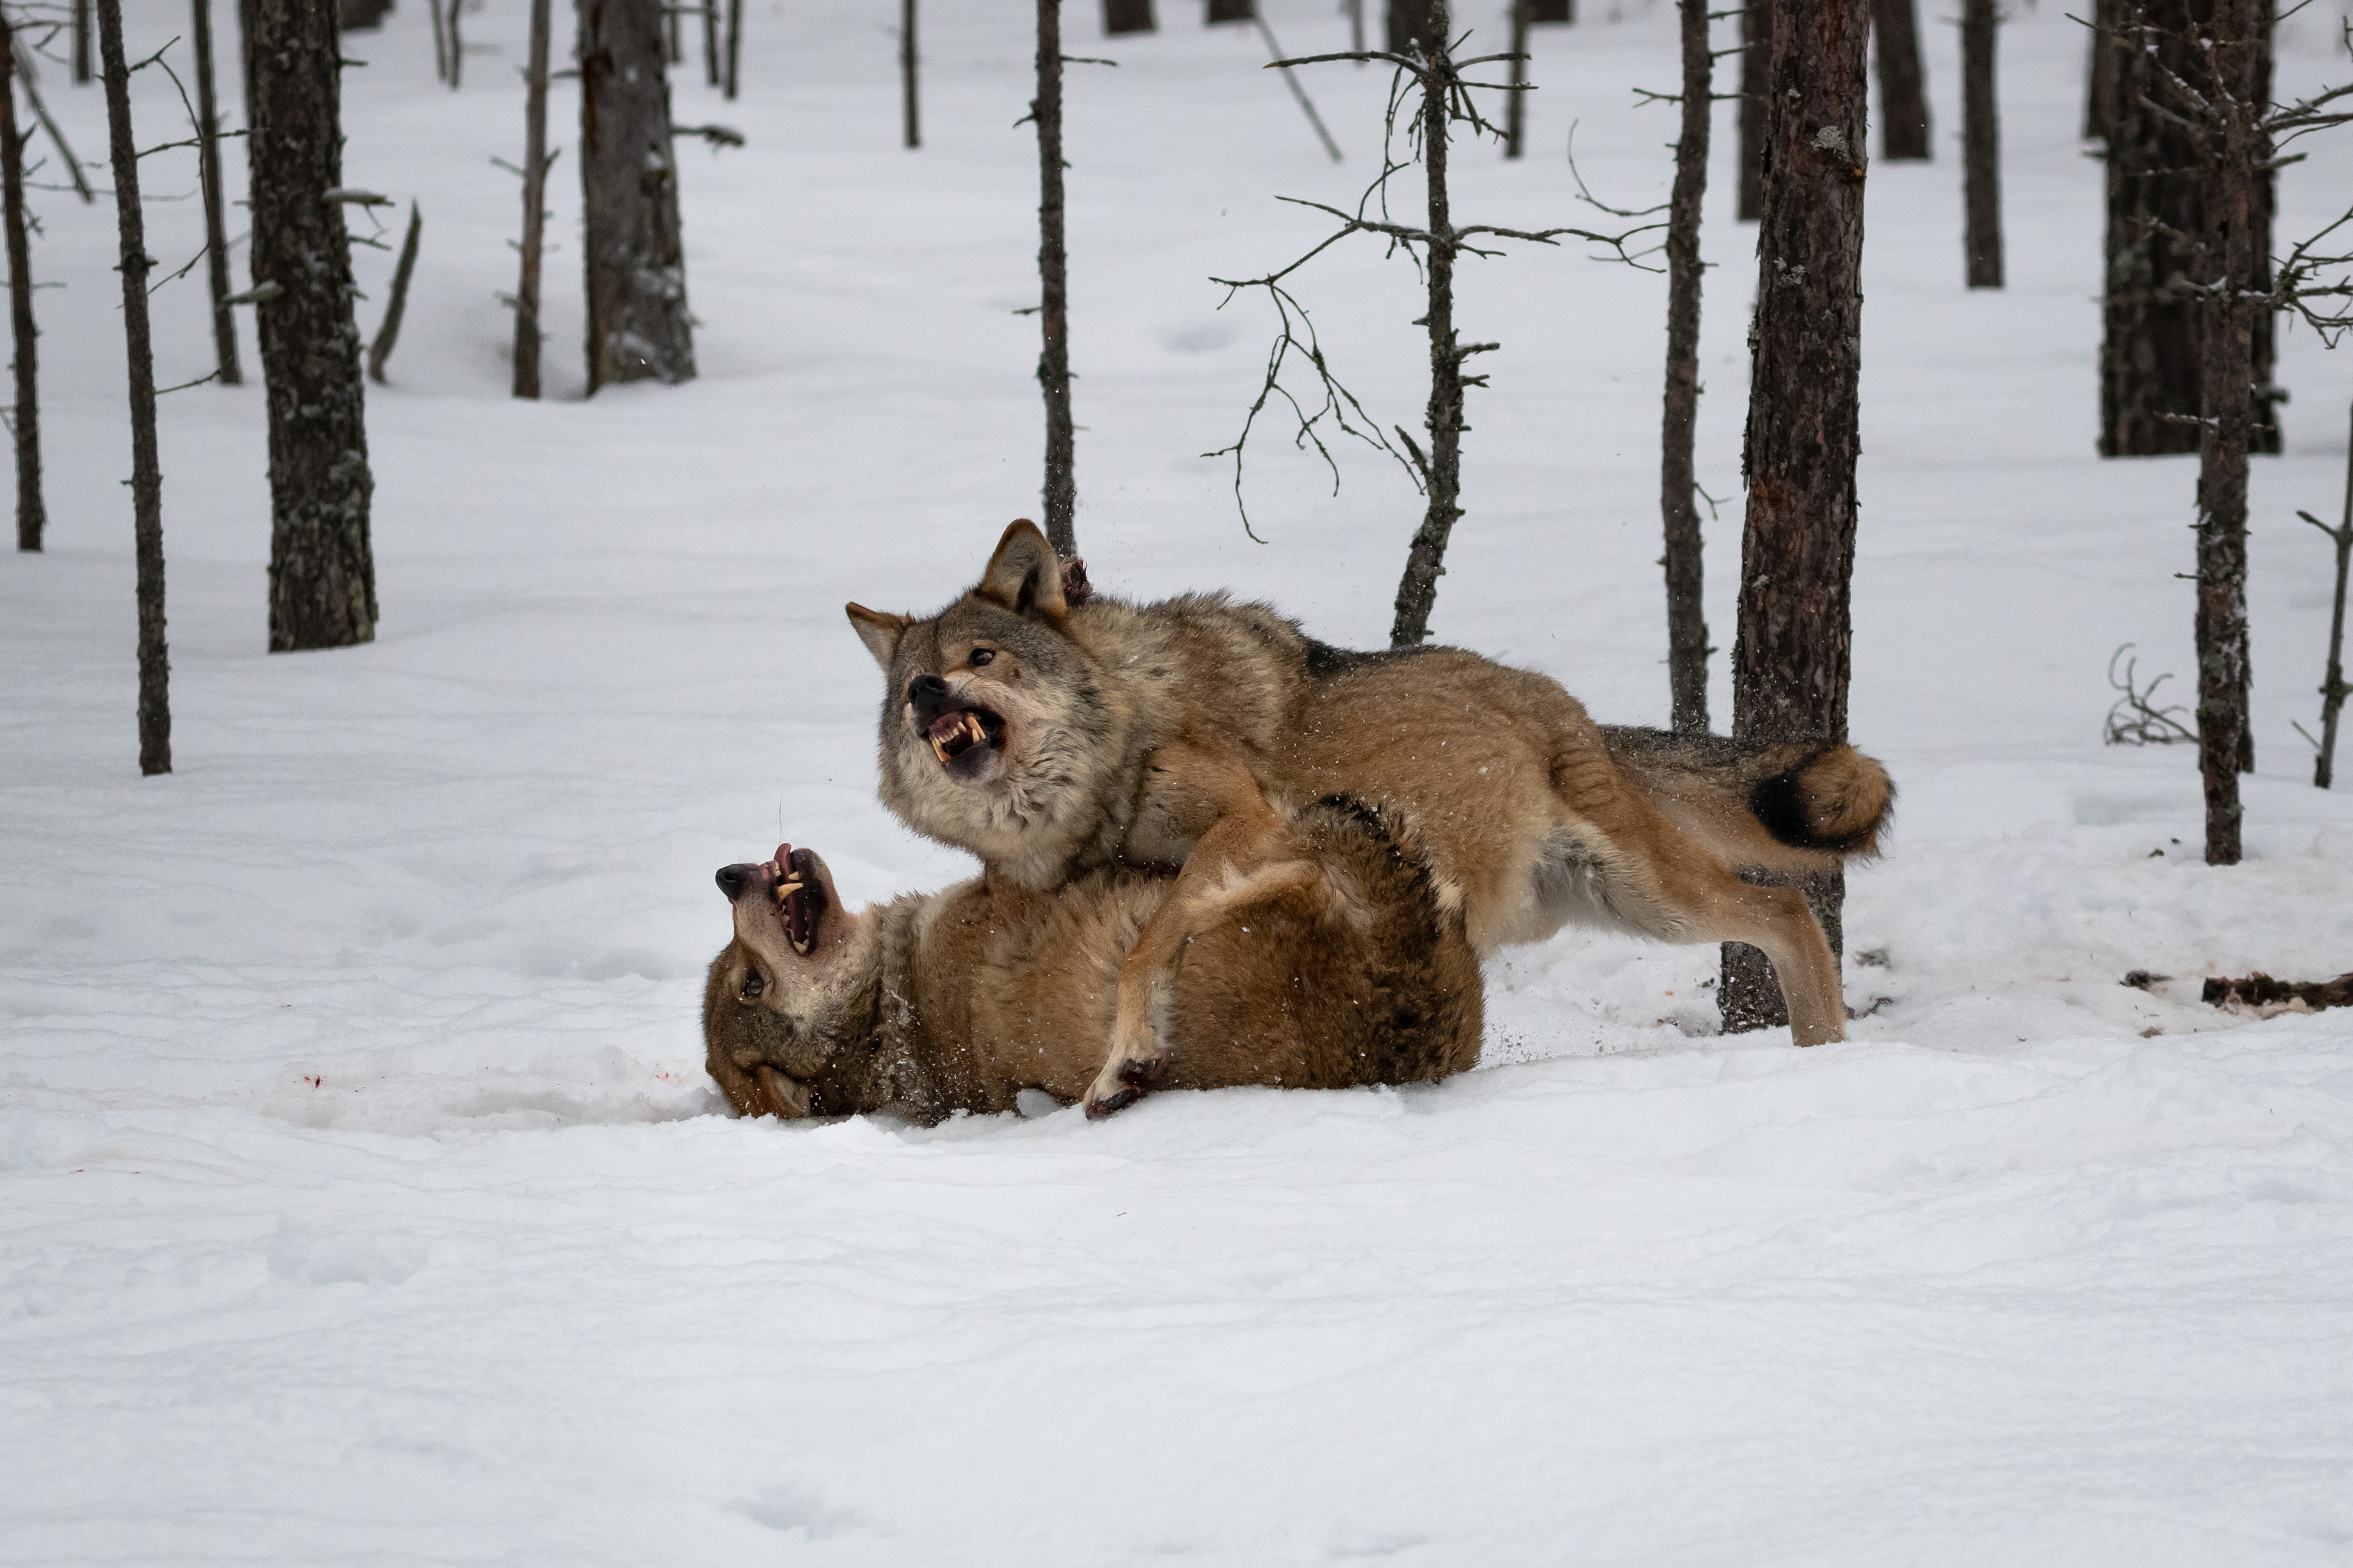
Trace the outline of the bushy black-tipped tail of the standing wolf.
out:
<instances>
[{"instance_id":1,"label":"bushy black-tipped tail of the standing wolf","mask_svg":"<svg viewBox=\"0 0 2353 1568\"><path fill-rule=\"evenodd\" d=\"M1713 818L1737 832L1746 818L1774 844L1817 856L1880 851L1894 780L1852 745L1760 743L1602 726L1612 762L1675 816ZM1678 811L1680 806L1680 811ZM1727 849L1732 849L1727 844Z\"/></svg>"}]
</instances>

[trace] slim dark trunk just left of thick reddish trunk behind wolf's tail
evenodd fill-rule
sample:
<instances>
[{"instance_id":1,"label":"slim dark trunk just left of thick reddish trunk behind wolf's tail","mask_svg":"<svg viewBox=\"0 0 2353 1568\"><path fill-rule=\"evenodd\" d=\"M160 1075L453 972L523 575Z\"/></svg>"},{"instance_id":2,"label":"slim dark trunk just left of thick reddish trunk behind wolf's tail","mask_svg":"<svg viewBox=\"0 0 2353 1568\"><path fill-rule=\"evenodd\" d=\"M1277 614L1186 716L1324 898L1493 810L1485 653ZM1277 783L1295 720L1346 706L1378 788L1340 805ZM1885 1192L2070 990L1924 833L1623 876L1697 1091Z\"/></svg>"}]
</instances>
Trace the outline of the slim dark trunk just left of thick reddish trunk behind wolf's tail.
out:
<instances>
[{"instance_id":1,"label":"slim dark trunk just left of thick reddish trunk behind wolf's tail","mask_svg":"<svg viewBox=\"0 0 2353 1568\"><path fill-rule=\"evenodd\" d=\"M1680 0L1682 136L1675 188L1666 202L1666 428L1659 512L1666 522L1666 679L1675 733L1708 733L1708 623L1701 604L1699 477L1699 209L1708 193L1708 115L1715 61L1708 54L1708 0Z\"/></svg>"}]
</instances>

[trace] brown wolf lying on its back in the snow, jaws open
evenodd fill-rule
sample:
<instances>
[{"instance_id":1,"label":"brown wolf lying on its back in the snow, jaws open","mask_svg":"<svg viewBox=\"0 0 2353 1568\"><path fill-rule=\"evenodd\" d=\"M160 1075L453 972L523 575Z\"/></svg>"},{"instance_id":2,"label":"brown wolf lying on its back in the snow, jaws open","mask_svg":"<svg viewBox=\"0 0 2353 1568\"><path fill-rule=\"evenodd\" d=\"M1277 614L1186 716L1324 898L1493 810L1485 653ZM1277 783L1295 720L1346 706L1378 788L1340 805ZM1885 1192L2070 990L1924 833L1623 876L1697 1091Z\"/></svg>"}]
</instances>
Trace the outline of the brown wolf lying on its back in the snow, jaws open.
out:
<instances>
[{"instance_id":1,"label":"brown wolf lying on its back in the snow, jaws open","mask_svg":"<svg viewBox=\"0 0 2353 1568\"><path fill-rule=\"evenodd\" d=\"M734 940L704 987L706 1065L746 1117L892 1110L932 1124L1078 1100L1104 1067L1120 964L1174 882L1101 867L1038 893L972 879L864 912L784 844L718 872ZM1348 1088L1478 1065L1461 912L1409 825L1358 802L1289 816L1271 858L1195 912L1162 1086Z\"/></svg>"}]
</instances>

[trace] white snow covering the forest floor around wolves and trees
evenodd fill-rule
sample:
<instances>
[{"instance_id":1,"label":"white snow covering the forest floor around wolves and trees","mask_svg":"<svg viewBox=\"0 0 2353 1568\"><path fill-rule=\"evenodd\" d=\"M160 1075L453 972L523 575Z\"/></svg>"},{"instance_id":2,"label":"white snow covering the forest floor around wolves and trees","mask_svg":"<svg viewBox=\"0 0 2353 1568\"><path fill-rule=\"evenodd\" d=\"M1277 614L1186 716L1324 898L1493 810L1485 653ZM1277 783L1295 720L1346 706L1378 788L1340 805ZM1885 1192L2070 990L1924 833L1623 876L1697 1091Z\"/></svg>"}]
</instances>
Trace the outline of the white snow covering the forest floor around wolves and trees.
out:
<instances>
[{"instance_id":1,"label":"white snow covering the forest floor around wolves and trees","mask_svg":"<svg viewBox=\"0 0 2353 1568\"><path fill-rule=\"evenodd\" d=\"M134 54L181 28L127 9ZM0 559L0 1561L2346 1561L2353 1016L2221 1016L2198 978L2353 969L2353 802L2289 729L2327 628L2294 510L2339 505L2353 355L2282 343L2249 858L2209 870L2191 755L2099 745L2111 649L2193 670L2193 461L2092 454L2064 7L2002 42L2007 292L1960 289L1951 28L1937 162L1871 181L1852 726L1904 799L1852 877L1849 999L1887 999L1857 1039L1718 1039L1713 952L1565 936L1494 964L1489 1065L1445 1086L939 1131L720 1117L694 1001L725 860L791 837L852 898L965 870L873 802L840 604L929 609L1035 508L1024 7L927 7L906 153L894 5L748 5L739 103L675 75L682 122L748 134L682 160L704 376L579 400L567 158L536 407L504 395L489 162L520 155L525 9L468 16L459 94L424 5L348 45L346 183L426 212L369 402L376 644L264 656L261 393L165 400L169 778L132 731L113 214L38 200L49 552ZM1205 280L1320 235L1273 197L1353 193L1381 73L1311 75L1332 167L1252 33L1165 0L1104 45L1120 61L1071 75L1094 578L1377 644L1402 475L1351 454L1332 498L1266 440L1254 545L1198 454L1271 327ZM1268 0L1297 52L1341 45L1329 9ZM1595 195L1664 197L1671 110L1628 89L1673 82L1671 9L1581 9L1539 33L1529 158L1464 153L1459 214L1593 221L1572 122ZM2353 68L2334 26L2282 28L2282 92ZM42 85L96 155L96 89ZM139 113L179 134L153 73ZM1729 106L1718 132L1727 642L1753 230ZM193 167L146 179L176 266ZM2353 143L2315 143L2282 237L2348 188ZM372 329L391 254L360 268ZM1299 292L1414 423L1412 270L1341 247ZM1628 722L1666 712L1661 301L1522 249L1459 308L1504 350L1438 632ZM200 282L155 313L160 381L200 376Z\"/></svg>"}]
</instances>

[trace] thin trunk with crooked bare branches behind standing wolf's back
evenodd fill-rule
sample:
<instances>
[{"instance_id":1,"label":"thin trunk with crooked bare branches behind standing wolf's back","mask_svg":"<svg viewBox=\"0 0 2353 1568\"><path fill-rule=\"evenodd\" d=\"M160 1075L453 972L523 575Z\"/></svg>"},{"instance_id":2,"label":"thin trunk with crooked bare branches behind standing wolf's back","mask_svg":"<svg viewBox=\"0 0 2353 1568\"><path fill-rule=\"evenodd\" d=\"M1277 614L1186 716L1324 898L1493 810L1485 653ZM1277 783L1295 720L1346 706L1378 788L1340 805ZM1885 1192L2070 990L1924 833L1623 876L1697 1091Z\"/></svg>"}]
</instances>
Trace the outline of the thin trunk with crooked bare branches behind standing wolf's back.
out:
<instances>
[{"instance_id":1,"label":"thin trunk with crooked bare branches behind standing wolf's back","mask_svg":"<svg viewBox=\"0 0 2353 1568\"><path fill-rule=\"evenodd\" d=\"M1447 0L1428 5L1428 38L1445 40L1452 31ZM1421 482L1431 505L1405 555L1405 578L1398 583L1398 618L1388 628L1388 646L1409 649L1431 635L1431 604L1438 602L1438 578L1445 576L1447 538L1464 515L1461 433L1464 433L1464 348L1454 341L1454 219L1447 205L1447 99L1454 63L1445 42L1433 45L1431 68L1421 75L1421 169L1428 179L1431 207L1426 230L1431 254L1424 266L1428 282L1431 329L1431 407L1421 423L1431 433ZM1485 348L1492 348L1487 343ZM1478 353L1473 348L1471 353ZM1419 454L1417 454L1419 456Z\"/></svg>"}]
</instances>

